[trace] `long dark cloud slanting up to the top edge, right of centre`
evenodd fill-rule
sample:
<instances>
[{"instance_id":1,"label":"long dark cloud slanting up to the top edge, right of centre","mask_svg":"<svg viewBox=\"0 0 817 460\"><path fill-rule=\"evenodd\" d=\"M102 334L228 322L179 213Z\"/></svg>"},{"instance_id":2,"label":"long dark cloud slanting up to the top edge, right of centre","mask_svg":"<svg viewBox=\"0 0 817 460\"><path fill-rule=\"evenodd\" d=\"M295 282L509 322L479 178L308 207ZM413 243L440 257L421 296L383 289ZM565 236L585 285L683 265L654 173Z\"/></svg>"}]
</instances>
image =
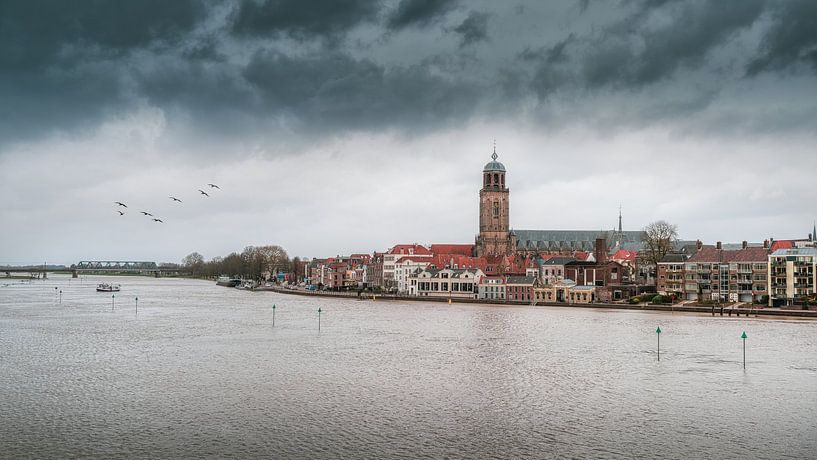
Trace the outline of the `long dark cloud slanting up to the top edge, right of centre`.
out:
<instances>
[{"instance_id":1,"label":"long dark cloud slanting up to the top edge, right of centre","mask_svg":"<svg viewBox=\"0 0 817 460\"><path fill-rule=\"evenodd\" d=\"M536 92L547 95L567 83L589 89L637 89L671 78L679 68L705 66L713 48L752 26L764 3L651 1L635 5L631 14L598 33L571 34L555 45L523 52L523 60L540 61L532 80Z\"/></svg>"}]
</instances>

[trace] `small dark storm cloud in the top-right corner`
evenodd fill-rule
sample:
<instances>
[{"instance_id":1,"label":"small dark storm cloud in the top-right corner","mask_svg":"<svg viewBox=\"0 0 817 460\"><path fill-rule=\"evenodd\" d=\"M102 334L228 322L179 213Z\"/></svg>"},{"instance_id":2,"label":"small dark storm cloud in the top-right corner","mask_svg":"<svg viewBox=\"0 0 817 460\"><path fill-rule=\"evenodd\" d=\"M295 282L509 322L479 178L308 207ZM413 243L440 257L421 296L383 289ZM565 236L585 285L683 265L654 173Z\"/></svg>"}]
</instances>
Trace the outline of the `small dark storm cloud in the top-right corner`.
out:
<instances>
[{"instance_id":1,"label":"small dark storm cloud in the top-right corner","mask_svg":"<svg viewBox=\"0 0 817 460\"><path fill-rule=\"evenodd\" d=\"M817 2L791 0L772 6L774 23L747 73L785 69L797 63L817 72Z\"/></svg>"}]
</instances>

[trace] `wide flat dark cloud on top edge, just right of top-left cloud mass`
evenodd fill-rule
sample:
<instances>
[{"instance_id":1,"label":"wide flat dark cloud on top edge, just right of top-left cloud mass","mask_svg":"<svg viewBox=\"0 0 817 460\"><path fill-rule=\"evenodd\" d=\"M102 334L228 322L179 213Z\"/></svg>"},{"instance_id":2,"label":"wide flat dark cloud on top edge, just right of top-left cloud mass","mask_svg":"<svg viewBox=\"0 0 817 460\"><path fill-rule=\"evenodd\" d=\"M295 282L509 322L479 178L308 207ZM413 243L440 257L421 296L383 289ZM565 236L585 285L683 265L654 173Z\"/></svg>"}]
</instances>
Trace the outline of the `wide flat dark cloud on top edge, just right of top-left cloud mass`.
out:
<instances>
[{"instance_id":1,"label":"wide flat dark cloud on top edge, just right of top-left cloud mass","mask_svg":"<svg viewBox=\"0 0 817 460\"><path fill-rule=\"evenodd\" d=\"M332 37L373 20L380 7L379 0L245 1L237 7L232 31L243 36Z\"/></svg>"}]
</instances>

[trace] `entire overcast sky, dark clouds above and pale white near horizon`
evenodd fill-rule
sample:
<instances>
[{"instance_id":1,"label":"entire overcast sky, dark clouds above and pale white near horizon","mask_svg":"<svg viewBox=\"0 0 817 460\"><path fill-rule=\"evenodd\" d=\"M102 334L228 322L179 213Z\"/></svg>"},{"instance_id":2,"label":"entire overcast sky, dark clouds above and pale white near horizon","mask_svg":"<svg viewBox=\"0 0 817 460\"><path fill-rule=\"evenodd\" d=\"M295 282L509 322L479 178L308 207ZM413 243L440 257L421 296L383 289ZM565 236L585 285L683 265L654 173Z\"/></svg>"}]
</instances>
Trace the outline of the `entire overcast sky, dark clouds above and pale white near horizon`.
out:
<instances>
[{"instance_id":1,"label":"entire overcast sky, dark clouds above and pale white near horizon","mask_svg":"<svg viewBox=\"0 0 817 460\"><path fill-rule=\"evenodd\" d=\"M0 264L470 243L494 139L514 228L805 237L817 2L0 2Z\"/></svg>"}]
</instances>

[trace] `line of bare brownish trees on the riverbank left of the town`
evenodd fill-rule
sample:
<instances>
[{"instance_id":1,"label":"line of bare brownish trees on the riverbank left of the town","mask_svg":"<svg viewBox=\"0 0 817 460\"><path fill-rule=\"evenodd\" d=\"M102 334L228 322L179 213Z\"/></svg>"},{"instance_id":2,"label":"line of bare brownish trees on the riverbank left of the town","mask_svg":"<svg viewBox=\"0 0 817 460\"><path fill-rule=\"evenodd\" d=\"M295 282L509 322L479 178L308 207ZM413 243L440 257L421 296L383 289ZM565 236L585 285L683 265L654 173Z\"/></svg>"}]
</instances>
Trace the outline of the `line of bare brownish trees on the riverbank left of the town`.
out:
<instances>
[{"instance_id":1,"label":"line of bare brownish trees on the riverbank left of the town","mask_svg":"<svg viewBox=\"0 0 817 460\"><path fill-rule=\"evenodd\" d=\"M193 252L182 259L181 265L191 275L206 278L226 275L259 280L278 273L300 277L303 271L300 257L290 259L286 250L277 245L247 246L240 253L231 252L209 261L198 252Z\"/></svg>"}]
</instances>

